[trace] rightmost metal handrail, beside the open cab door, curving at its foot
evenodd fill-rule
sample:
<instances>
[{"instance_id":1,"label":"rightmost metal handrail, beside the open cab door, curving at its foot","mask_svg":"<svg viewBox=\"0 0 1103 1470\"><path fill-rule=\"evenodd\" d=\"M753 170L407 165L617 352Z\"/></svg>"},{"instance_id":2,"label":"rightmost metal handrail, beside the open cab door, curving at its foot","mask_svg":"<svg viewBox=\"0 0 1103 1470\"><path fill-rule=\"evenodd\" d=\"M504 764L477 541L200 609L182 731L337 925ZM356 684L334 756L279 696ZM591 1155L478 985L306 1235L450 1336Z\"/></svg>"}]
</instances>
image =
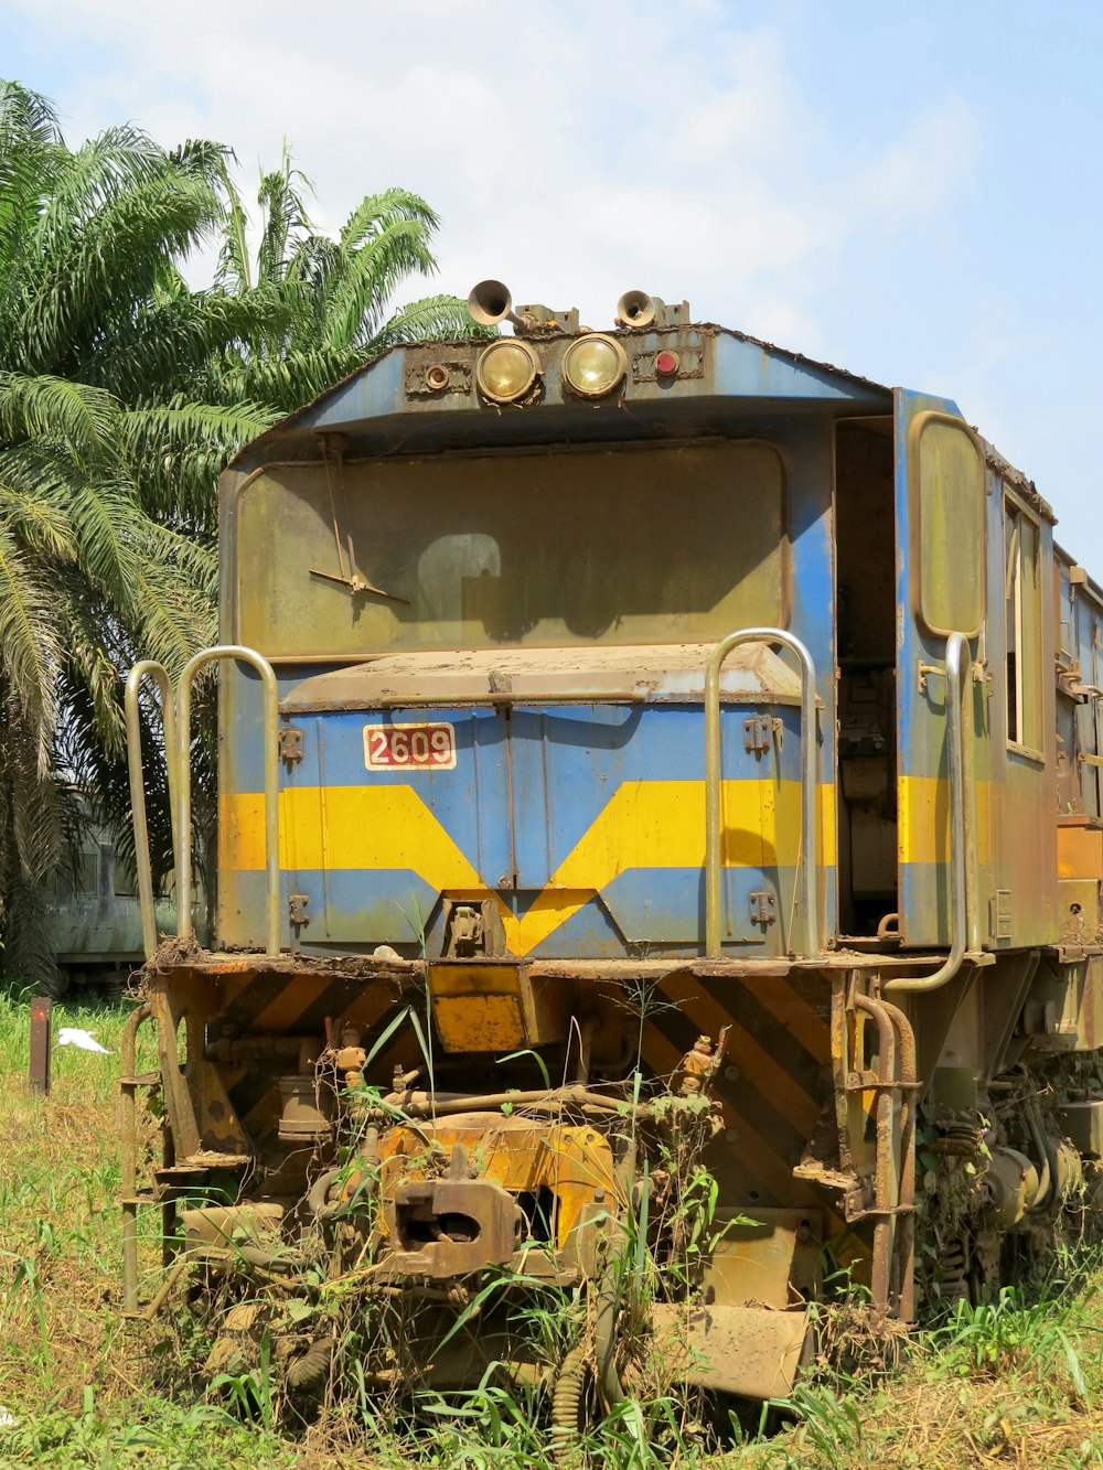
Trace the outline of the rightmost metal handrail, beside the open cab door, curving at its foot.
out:
<instances>
[{"instance_id":1,"label":"rightmost metal handrail, beside the open cab door, curving at its foot","mask_svg":"<svg viewBox=\"0 0 1103 1470\"><path fill-rule=\"evenodd\" d=\"M885 980L885 991L937 991L941 989L962 967L966 936L979 947L974 933L977 925L977 903L971 888L969 854L975 833L975 795L972 761L966 754L965 722L962 706L969 691L972 659L965 634L950 634L946 639L946 669L928 670L946 673L946 744L950 764L950 953L934 975L900 975Z\"/></svg>"}]
</instances>

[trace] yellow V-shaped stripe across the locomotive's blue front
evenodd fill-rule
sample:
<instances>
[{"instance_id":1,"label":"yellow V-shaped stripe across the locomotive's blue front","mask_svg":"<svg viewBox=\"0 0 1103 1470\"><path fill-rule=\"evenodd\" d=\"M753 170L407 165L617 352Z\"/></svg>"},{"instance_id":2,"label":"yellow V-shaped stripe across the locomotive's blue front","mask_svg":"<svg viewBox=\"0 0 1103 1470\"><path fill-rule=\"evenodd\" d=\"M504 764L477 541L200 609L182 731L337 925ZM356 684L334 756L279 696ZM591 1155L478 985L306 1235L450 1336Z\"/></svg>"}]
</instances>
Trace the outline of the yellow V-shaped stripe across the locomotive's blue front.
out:
<instances>
[{"instance_id":1,"label":"yellow V-shaped stripe across the locomotive's blue front","mask_svg":"<svg viewBox=\"0 0 1103 1470\"><path fill-rule=\"evenodd\" d=\"M834 786L819 788L819 858L835 851ZM725 867L796 866L800 784L725 781L721 789ZM704 782L628 781L552 875L528 911L515 917L488 888L410 786L296 786L279 795L279 866L407 869L437 892L494 898L506 944L526 954L619 873L637 867L702 867ZM219 864L237 872L265 866L263 798L219 800Z\"/></svg>"}]
</instances>

